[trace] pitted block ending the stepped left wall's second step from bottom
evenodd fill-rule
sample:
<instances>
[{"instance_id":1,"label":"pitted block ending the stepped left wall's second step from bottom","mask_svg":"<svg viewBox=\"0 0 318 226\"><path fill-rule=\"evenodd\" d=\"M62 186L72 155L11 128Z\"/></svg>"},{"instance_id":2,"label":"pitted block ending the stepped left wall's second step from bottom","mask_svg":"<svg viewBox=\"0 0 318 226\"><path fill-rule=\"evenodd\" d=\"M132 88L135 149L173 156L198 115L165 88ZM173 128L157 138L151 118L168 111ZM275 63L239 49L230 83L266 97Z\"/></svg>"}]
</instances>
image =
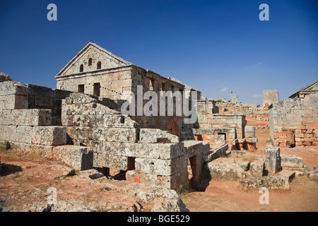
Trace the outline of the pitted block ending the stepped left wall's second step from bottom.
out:
<instances>
[{"instance_id":1,"label":"pitted block ending the stepped left wall's second step from bottom","mask_svg":"<svg viewBox=\"0 0 318 226\"><path fill-rule=\"evenodd\" d=\"M40 145L65 145L66 127L64 126L34 126L32 143Z\"/></svg>"}]
</instances>

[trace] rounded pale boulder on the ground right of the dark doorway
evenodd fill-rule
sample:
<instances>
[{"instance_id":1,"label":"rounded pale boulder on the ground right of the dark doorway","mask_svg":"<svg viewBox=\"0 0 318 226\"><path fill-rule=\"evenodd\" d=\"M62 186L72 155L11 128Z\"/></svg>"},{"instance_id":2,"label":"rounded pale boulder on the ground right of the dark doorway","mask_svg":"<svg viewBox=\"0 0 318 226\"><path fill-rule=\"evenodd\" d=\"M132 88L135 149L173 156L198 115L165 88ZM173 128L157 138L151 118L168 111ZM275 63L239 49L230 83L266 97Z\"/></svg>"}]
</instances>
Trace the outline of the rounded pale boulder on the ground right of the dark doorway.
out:
<instances>
[{"instance_id":1,"label":"rounded pale boulder on the ground right of the dark doorway","mask_svg":"<svg viewBox=\"0 0 318 226\"><path fill-rule=\"evenodd\" d=\"M212 162L208 162L205 167L210 171L212 179L237 179L246 177L245 170L234 162L234 160L228 158L218 158Z\"/></svg>"}]
</instances>

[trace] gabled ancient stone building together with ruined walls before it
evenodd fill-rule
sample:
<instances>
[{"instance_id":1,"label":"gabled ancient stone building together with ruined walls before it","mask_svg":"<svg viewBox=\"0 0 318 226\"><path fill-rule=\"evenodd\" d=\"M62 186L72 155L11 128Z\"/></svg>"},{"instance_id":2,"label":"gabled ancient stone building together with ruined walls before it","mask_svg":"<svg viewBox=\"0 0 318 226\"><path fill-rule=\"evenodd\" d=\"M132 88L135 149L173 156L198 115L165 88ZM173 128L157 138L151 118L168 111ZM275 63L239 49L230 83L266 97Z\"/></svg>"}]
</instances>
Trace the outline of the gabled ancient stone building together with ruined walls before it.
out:
<instances>
[{"instance_id":1,"label":"gabled ancient stone building together with ruined walls before it","mask_svg":"<svg viewBox=\"0 0 318 226\"><path fill-rule=\"evenodd\" d=\"M97 44L88 43L56 78L57 89L52 89L0 74L0 141L76 170L95 167L113 177L124 174L131 182L170 189L198 183L203 165L228 149L256 148L255 127L246 126L244 115L218 114L216 101L199 90ZM138 100L132 100L141 94L143 106L151 92L168 94L164 98L170 97L172 105L163 106L165 111L172 107L172 115L138 114ZM122 112L127 100L132 114ZM184 123L192 117L184 108L177 114L179 100L189 100L192 123Z\"/></svg>"}]
</instances>

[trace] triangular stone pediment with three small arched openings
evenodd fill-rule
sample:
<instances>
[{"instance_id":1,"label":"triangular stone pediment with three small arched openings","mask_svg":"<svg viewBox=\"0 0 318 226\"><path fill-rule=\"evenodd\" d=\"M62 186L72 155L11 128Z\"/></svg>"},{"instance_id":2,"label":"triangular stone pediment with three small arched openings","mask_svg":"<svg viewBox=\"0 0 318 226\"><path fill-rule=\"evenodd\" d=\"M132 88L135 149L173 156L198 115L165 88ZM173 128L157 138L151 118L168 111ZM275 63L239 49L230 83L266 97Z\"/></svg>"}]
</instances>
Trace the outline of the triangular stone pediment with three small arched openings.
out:
<instances>
[{"instance_id":1,"label":"triangular stone pediment with three small arched openings","mask_svg":"<svg viewBox=\"0 0 318 226\"><path fill-rule=\"evenodd\" d=\"M98 62L100 62L100 67L98 67ZM78 52L78 54L76 54L63 69L61 69L57 74L57 77L102 69L113 69L128 65L132 64L100 47L98 44L89 42L86 47L81 49L81 51Z\"/></svg>"}]
</instances>

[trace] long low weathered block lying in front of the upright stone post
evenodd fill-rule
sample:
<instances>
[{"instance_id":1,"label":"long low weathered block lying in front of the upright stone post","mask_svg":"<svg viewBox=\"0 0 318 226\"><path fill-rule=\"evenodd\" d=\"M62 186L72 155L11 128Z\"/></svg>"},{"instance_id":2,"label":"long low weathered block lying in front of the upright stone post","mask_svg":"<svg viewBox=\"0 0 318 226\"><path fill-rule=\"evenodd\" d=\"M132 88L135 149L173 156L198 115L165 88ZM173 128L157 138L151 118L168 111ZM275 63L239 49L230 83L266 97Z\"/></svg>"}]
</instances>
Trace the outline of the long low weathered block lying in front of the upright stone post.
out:
<instances>
[{"instance_id":1,"label":"long low weathered block lying in front of the upright stone post","mask_svg":"<svg viewBox=\"0 0 318 226\"><path fill-rule=\"evenodd\" d=\"M290 189L287 177L281 175L269 177L243 178L240 180L242 189L260 189L266 187L269 190L274 189Z\"/></svg>"}]
</instances>

